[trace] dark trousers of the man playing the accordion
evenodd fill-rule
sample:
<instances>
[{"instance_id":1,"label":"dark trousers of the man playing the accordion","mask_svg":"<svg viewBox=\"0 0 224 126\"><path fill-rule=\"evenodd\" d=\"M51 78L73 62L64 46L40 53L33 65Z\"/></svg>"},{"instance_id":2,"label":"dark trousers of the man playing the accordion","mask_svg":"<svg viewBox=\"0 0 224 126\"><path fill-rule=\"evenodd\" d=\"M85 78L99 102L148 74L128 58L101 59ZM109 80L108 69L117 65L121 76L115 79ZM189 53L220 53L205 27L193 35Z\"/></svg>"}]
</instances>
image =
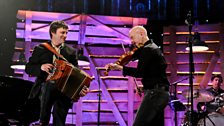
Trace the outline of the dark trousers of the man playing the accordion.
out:
<instances>
[{"instance_id":1,"label":"dark trousers of the man playing the accordion","mask_svg":"<svg viewBox=\"0 0 224 126\"><path fill-rule=\"evenodd\" d=\"M43 83L41 88L40 123L47 126L53 107L53 126L65 126L66 116L71 107L71 100L63 95L54 83Z\"/></svg>"}]
</instances>

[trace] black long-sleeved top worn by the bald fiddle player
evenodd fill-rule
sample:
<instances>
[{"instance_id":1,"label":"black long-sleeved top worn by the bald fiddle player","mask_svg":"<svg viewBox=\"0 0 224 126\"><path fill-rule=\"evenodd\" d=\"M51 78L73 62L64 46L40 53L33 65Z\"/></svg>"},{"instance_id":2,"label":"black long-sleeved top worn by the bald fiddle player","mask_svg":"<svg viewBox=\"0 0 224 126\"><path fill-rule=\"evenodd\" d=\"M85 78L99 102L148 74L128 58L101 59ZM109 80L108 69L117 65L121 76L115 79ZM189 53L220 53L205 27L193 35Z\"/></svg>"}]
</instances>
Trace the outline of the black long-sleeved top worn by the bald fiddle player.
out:
<instances>
[{"instance_id":1,"label":"black long-sleeved top worn by the bald fiddle player","mask_svg":"<svg viewBox=\"0 0 224 126\"><path fill-rule=\"evenodd\" d=\"M147 41L133 55L138 59L137 68L123 67L123 75L142 78L144 89L153 89L155 85L169 85L166 76L167 63L158 46Z\"/></svg>"}]
</instances>

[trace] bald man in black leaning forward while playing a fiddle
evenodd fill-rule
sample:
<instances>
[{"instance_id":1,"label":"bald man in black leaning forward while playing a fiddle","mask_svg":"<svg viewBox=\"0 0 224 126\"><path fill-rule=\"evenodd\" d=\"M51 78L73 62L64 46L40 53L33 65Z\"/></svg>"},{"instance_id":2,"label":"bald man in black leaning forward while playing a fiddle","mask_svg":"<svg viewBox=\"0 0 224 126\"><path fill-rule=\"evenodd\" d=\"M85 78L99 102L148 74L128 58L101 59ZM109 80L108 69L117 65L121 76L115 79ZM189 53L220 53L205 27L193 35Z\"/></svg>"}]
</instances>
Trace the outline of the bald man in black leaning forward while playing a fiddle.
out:
<instances>
[{"instance_id":1,"label":"bald man in black leaning forward while playing a fiddle","mask_svg":"<svg viewBox=\"0 0 224 126\"><path fill-rule=\"evenodd\" d=\"M142 78L144 98L137 111L133 126L162 126L160 117L169 101L169 81L166 76L166 61L160 48L147 35L142 26L135 26L129 31L131 43L138 47L134 59L138 59L136 68L107 64L106 69L122 70L123 76Z\"/></svg>"}]
</instances>

